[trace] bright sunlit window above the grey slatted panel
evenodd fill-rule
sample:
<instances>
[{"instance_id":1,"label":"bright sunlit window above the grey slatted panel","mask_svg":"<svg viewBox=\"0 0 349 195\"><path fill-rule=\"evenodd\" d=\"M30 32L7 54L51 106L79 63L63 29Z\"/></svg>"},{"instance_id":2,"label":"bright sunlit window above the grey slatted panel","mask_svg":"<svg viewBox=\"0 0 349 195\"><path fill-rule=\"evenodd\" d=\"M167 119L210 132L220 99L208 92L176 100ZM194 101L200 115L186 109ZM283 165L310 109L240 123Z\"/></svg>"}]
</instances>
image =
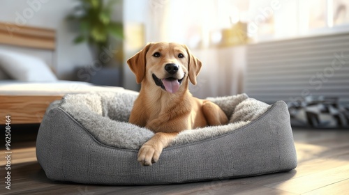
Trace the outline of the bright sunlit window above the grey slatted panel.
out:
<instances>
[{"instance_id":1,"label":"bright sunlit window above the grey slatted panel","mask_svg":"<svg viewBox=\"0 0 349 195\"><path fill-rule=\"evenodd\" d=\"M153 0L158 1L158 0ZM154 38L191 48L349 31L349 0L168 0ZM156 29L153 26L151 29ZM159 33L159 31L161 31ZM158 33L160 36L158 36Z\"/></svg>"}]
</instances>

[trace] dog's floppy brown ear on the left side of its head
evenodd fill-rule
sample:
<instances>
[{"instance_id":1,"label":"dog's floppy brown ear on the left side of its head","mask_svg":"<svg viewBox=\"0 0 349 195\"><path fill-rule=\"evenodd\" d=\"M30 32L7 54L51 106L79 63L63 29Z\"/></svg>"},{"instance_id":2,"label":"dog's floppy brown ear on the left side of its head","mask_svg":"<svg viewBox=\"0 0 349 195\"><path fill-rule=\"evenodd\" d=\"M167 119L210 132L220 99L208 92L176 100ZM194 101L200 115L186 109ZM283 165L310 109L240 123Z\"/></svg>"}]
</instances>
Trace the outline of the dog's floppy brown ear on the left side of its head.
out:
<instances>
[{"instance_id":1,"label":"dog's floppy brown ear on the left side of its head","mask_svg":"<svg viewBox=\"0 0 349 195\"><path fill-rule=\"evenodd\" d=\"M151 43L148 43L140 52L132 56L127 60L127 64L132 70L133 74L135 74L135 81L138 84L142 82L145 75L145 65L147 61L145 60L145 55L147 54Z\"/></svg>"}]
</instances>

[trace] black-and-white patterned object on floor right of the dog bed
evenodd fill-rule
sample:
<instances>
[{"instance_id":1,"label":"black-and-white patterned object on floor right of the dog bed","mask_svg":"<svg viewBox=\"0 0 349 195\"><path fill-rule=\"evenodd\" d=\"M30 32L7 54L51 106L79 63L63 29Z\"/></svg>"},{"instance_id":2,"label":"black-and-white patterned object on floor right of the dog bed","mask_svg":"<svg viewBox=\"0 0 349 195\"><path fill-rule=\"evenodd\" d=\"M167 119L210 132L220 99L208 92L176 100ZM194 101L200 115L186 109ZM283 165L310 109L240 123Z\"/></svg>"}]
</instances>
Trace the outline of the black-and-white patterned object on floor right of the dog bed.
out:
<instances>
[{"instance_id":1,"label":"black-and-white patterned object on floor right of the dog bed","mask_svg":"<svg viewBox=\"0 0 349 195\"><path fill-rule=\"evenodd\" d=\"M339 98L307 96L288 102L292 127L349 128L349 105Z\"/></svg>"}]
</instances>

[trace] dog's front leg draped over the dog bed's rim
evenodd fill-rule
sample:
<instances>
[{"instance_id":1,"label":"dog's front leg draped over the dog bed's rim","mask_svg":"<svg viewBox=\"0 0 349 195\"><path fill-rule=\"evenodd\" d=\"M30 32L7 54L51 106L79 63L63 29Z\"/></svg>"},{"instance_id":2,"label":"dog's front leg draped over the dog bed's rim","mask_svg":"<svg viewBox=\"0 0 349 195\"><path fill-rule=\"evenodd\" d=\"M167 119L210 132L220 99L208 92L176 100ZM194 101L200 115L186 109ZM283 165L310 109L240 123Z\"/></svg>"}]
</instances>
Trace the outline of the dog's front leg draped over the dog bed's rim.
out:
<instances>
[{"instance_id":1,"label":"dog's front leg draped over the dog bed's rim","mask_svg":"<svg viewBox=\"0 0 349 195\"><path fill-rule=\"evenodd\" d=\"M177 136L177 132L174 133L163 133L158 132L154 134L149 141L143 144L138 152L138 161L143 166L151 166L152 163L158 162L163 148L166 148L174 137Z\"/></svg>"}]
</instances>

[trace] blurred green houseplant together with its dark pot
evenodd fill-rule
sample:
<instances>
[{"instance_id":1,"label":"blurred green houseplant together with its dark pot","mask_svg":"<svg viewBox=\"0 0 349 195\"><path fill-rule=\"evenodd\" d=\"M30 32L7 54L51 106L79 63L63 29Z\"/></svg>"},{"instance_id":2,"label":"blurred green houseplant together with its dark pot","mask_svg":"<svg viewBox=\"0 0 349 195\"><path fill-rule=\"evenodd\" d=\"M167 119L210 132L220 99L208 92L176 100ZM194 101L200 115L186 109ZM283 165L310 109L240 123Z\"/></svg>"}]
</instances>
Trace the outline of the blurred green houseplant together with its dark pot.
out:
<instances>
[{"instance_id":1,"label":"blurred green houseplant together with its dark pot","mask_svg":"<svg viewBox=\"0 0 349 195\"><path fill-rule=\"evenodd\" d=\"M112 21L112 8L114 3L122 1L77 1L79 1L78 5L67 17L79 32L73 42L75 44L87 42L93 59L92 65L77 70L77 79L99 85L121 86L123 25ZM114 38L113 42L111 38ZM107 60L105 60L106 55ZM112 63L112 60L116 63Z\"/></svg>"}]
</instances>

